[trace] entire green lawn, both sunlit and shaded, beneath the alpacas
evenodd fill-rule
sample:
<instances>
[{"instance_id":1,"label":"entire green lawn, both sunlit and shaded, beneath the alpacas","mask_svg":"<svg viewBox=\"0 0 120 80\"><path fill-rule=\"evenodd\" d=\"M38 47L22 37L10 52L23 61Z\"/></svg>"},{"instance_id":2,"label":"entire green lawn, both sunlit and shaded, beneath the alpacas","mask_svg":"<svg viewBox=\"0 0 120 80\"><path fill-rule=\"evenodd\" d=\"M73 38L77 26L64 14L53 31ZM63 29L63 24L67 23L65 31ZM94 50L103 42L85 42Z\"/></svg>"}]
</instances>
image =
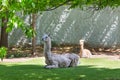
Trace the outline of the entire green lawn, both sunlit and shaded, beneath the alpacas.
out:
<instances>
[{"instance_id":1,"label":"entire green lawn, both sunlit and shaded, beneath the alpacas","mask_svg":"<svg viewBox=\"0 0 120 80\"><path fill-rule=\"evenodd\" d=\"M120 80L120 60L81 59L74 68L44 69L43 58L0 63L0 80Z\"/></svg>"}]
</instances>

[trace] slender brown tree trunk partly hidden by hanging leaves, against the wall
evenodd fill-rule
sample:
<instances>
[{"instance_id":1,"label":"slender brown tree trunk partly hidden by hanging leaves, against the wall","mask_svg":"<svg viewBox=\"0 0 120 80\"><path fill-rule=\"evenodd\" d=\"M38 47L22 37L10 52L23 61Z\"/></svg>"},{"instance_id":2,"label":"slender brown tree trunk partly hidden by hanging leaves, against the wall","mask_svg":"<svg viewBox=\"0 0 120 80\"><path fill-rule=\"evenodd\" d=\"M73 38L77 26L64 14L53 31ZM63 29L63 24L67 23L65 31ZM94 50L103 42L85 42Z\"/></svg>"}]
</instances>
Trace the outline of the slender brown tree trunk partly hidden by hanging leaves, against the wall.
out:
<instances>
[{"instance_id":1,"label":"slender brown tree trunk partly hidden by hanging leaves, against the wall","mask_svg":"<svg viewBox=\"0 0 120 80\"><path fill-rule=\"evenodd\" d=\"M32 14L32 23L31 26L34 31L36 31L36 14ZM32 55L35 55L36 52L36 37L33 36L32 38Z\"/></svg>"}]
</instances>

